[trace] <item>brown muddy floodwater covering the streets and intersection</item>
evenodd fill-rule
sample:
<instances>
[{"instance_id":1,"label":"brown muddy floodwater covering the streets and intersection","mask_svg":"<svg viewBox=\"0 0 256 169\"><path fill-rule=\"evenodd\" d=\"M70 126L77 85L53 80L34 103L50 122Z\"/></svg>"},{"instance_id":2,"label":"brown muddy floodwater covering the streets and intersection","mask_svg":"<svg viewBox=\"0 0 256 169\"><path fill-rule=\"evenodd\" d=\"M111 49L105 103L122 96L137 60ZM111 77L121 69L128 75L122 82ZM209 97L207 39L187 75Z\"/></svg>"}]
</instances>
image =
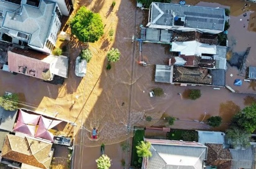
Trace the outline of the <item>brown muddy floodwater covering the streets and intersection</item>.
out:
<instances>
[{"instance_id":1,"label":"brown muddy floodwater covering the streets and intersection","mask_svg":"<svg viewBox=\"0 0 256 169\"><path fill-rule=\"evenodd\" d=\"M207 1L210 2L210 0ZM125 157L119 142L127 139L126 125L128 124L130 127L163 126L164 121L160 119L165 113L178 119L173 128L212 130L203 122L212 115L220 115L223 124L216 130L225 130L231 117L255 100L254 95L234 94L227 88L214 90L213 87L208 86L179 87L167 83L155 83L155 64L168 63L169 46L143 43L143 57L148 65L137 64L139 44L132 42L131 38L139 34L140 24L146 23L148 11L140 9L136 11L135 0L117 0L114 8L110 6L111 2L112 0L80 0L74 5L75 10L85 5L92 11L99 12L105 25L103 37L98 42L89 43L93 58L87 64L87 74L84 78L78 78L74 74L74 60L84 48L84 44L77 42L74 37L70 41L68 79L65 79L63 86L52 85L21 74L12 75L0 71L1 95L5 91L16 92L20 96L20 104L23 107L48 115L55 114L57 118L64 118L78 124L75 128L78 137L75 144L77 155L74 159L74 168L96 168L95 159L100 156L101 143L106 145L106 154L113 159L111 168L121 168L120 160ZM200 1L187 1L188 4L193 5L198 2ZM241 8L245 2L238 0L215 2L225 7L231 5L232 16L229 21L231 27L228 33L231 53L241 54L247 47L251 47L245 63L256 66L253 56L256 53L256 34L253 31L247 31L252 16L250 17L250 11L246 17L242 16L244 12ZM205 2L200 2L198 5L223 7L217 3ZM256 5L252 4L250 10L254 9ZM112 41L108 35L111 28L115 30ZM68 31L70 31L69 28ZM121 57L118 62L111 64L112 68L107 71L106 53L111 47L118 48ZM238 75L239 70L236 66L227 65L226 84L233 88L234 79L241 76ZM233 76L231 77L230 74ZM234 90L255 91L255 84L243 83L244 86L234 87ZM154 87L163 88L164 96L151 98L149 92ZM202 93L197 100L187 100L178 95L186 89L194 88L200 89ZM151 116L153 120L146 122L145 116ZM83 124L82 129L81 124ZM91 140L90 132L93 127L98 129L97 140ZM132 136L131 133L129 136ZM129 143L131 144L131 140Z\"/></svg>"}]
</instances>

